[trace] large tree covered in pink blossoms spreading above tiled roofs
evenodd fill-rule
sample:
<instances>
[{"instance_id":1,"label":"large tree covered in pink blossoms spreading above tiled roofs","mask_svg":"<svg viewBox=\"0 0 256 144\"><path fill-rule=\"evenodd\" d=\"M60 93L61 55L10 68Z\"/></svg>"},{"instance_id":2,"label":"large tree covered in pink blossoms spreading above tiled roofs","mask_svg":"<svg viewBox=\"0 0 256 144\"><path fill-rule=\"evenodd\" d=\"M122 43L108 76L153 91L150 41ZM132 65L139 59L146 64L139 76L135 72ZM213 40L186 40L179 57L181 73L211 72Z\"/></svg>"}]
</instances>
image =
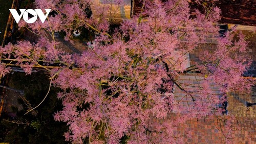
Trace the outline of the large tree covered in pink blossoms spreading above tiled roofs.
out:
<instances>
[{"instance_id":1,"label":"large tree covered in pink blossoms spreading above tiled roofs","mask_svg":"<svg viewBox=\"0 0 256 144\"><path fill-rule=\"evenodd\" d=\"M121 0L111 2L124 5ZM51 75L51 84L62 89L58 98L63 110L54 118L67 122L66 140L118 143L126 136L130 143L173 143L181 140L175 131L189 117L219 114L223 109L217 105L226 101L229 91L250 89L252 82L242 78L251 62L247 43L242 35L238 41L229 32L219 36L214 25L220 19L217 7L204 6L200 12L191 10L187 0L145 0L141 13L110 33L112 7L91 15L91 3L36 0L37 8L55 11L45 23L18 23L38 35L36 43L19 41L0 49L2 76L12 65L28 74L41 67ZM72 41L73 31L81 27L95 33L94 47L82 54L63 52L54 32L64 31L65 39ZM216 38L215 50L205 51L200 62L186 67L186 55L205 45L209 35ZM177 78L193 70L203 82L197 90L185 89ZM221 94L211 92L212 83ZM193 100L189 108L175 101L174 87ZM170 113L176 116L169 118ZM164 121L154 120L159 118Z\"/></svg>"}]
</instances>

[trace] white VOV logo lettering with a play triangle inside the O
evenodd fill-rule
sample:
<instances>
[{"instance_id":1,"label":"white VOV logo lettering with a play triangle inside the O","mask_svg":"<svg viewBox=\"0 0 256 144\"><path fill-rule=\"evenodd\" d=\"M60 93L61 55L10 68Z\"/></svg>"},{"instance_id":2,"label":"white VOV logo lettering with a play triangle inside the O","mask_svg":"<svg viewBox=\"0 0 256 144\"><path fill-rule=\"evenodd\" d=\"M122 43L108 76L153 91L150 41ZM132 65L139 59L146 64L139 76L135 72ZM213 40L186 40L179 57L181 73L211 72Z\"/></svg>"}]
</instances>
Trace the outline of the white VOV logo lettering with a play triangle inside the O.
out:
<instances>
[{"instance_id":1,"label":"white VOV logo lettering with a play triangle inside the O","mask_svg":"<svg viewBox=\"0 0 256 144\"><path fill-rule=\"evenodd\" d=\"M45 9L45 11L46 11L46 15L45 15L44 12L42 12L41 9L35 9L35 10L33 10L33 9L27 9L27 10L26 9L19 9L19 11L21 13L19 15L18 12L15 9L9 9L9 10L10 10L12 16L14 17L14 19L17 23L19 22L20 18L22 18L22 16L23 16L23 19L27 23L33 23L37 20L37 15L38 15L39 19L42 21L42 23L44 23L47 16L49 15L49 13L51 11L51 9ZM30 19L29 19L29 13L31 15L33 15L33 17L31 17Z\"/></svg>"}]
</instances>

